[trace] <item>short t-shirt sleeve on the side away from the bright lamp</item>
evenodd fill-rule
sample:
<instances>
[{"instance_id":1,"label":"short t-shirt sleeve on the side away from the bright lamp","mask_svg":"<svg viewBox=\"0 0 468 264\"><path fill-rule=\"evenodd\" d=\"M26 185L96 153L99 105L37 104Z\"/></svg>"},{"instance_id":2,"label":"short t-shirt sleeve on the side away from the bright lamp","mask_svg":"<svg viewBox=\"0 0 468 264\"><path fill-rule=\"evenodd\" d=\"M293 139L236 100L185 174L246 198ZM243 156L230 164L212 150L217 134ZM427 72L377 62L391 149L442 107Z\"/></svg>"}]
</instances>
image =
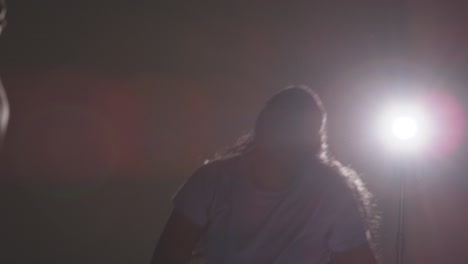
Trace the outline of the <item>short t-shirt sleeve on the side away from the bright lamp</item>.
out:
<instances>
[{"instance_id":1,"label":"short t-shirt sleeve on the side away from the bright lamp","mask_svg":"<svg viewBox=\"0 0 468 264\"><path fill-rule=\"evenodd\" d=\"M208 222L214 184L210 165L197 169L172 197L174 210L190 219L198 226Z\"/></svg>"}]
</instances>

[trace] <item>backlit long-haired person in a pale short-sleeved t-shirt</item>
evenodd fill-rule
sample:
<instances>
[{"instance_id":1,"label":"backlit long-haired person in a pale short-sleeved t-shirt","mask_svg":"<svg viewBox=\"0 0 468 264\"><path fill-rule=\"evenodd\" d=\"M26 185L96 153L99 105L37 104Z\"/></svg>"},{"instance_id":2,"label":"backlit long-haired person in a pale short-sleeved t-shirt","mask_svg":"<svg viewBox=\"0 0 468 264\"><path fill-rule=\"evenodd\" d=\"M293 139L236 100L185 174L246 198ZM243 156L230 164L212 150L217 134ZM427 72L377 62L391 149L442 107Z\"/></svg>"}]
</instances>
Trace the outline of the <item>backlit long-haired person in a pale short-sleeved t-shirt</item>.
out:
<instances>
[{"instance_id":1,"label":"backlit long-haired person in a pale short-sleeved t-shirt","mask_svg":"<svg viewBox=\"0 0 468 264\"><path fill-rule=\"evenodd\" d=\"M254 132L173 198L152 263L376 263L359 176L327 153L326 114L306 87L274 95Z\"/></svg>"}]
</instances>

